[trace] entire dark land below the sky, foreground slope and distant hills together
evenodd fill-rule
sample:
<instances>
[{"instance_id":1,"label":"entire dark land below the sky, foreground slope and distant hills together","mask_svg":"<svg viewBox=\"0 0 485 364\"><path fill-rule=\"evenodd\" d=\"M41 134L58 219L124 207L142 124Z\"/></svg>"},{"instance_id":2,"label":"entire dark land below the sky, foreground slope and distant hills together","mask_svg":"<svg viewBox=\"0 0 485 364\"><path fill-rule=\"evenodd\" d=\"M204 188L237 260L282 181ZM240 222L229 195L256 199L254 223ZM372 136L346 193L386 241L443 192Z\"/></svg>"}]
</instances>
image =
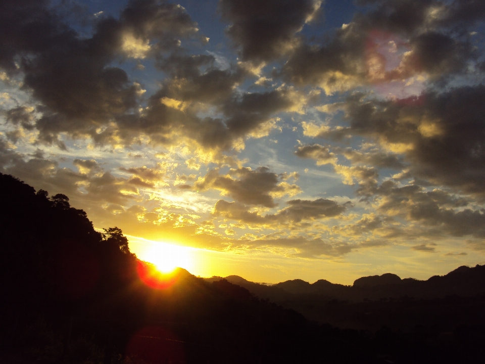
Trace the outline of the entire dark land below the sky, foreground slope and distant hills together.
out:
<instances>
[{"instance_id":1,"label":"entire dark land below the sky, foreground slope and distant hills together","mask_svg":"<svg viewBox=\"0 0 485 364\"><path fill-rule=\"evenodd\" d=\"M0 173L2 363L482 362L484 267L275 286L159 277L116 228ZM330 324L332 325L330 325Z\"/></svg>"}]
</instances>

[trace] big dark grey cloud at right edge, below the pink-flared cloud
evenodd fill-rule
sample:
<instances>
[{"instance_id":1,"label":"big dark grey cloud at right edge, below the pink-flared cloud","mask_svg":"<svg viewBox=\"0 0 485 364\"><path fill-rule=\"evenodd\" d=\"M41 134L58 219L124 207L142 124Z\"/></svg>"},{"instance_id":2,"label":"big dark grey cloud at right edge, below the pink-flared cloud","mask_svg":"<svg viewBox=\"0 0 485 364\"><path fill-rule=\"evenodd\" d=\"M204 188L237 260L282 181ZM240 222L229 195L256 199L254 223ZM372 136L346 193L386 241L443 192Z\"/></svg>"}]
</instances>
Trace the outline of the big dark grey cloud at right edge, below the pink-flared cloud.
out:
<instances>
[{"instance_id":1,"label":"big dark grey cloud at right edge, below the pink-flared cloud","mask_svg":"<svg viewBox=\"0 0 485 364\"><path fill-rule=\"evenodd\" d=\"M349 132L397 149L410 175L485 193L485 86L396 101L351 101Z\"/></svg>"}]
</instances>

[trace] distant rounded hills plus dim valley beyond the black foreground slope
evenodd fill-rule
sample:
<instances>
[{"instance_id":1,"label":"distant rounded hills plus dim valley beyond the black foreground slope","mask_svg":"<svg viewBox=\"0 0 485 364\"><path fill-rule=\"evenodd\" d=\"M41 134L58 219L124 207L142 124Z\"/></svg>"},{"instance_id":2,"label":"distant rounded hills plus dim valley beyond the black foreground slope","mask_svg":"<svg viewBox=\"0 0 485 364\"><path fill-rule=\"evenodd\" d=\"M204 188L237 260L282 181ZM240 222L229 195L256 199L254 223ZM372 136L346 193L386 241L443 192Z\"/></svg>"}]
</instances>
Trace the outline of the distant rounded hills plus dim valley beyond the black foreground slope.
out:
<instances>
[{"instance_id":1,"label":"distant rounded hills plus dim valley beyond the black foreground slope","mask_svg":"<svg viewBox=\"0 0 485 364\"><path fill-rule=\"evenodd\" d=\"M221 277L207 279L216 282ZM426 281L394 274L362 277L353 286L293 280L266 286L238 276L225 278L255 296L341 328L411 330L416 325L485 324L485 266L461 266Z\"/></svg>"}]
</instances>

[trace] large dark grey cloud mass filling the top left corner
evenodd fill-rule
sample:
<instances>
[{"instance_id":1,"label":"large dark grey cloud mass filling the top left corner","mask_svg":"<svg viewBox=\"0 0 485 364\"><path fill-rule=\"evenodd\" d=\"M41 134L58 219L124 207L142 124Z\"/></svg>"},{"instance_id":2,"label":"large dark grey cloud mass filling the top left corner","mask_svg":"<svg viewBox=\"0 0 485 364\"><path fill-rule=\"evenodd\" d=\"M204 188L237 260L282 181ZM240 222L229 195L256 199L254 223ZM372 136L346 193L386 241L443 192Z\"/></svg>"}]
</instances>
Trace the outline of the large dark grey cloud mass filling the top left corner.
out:
<instances>
[{"instance_id":1,"label":"large dark grey cloud mass filling the top left corner","mask_svg":"<svg viewBox=\"0 0 485 364\"><path fill-rule=\"evenodd\" d=\"M0 5L0 67L23 74L23 87L41 103L39 138L55 143L61 132L95 134L138 105L139 85L113 61L176 48L179 37L197 32L195 26L177 5L132 0L119 20L102 17L86 38L47 1L8 0Z\"/></svg>"}]
</instances>

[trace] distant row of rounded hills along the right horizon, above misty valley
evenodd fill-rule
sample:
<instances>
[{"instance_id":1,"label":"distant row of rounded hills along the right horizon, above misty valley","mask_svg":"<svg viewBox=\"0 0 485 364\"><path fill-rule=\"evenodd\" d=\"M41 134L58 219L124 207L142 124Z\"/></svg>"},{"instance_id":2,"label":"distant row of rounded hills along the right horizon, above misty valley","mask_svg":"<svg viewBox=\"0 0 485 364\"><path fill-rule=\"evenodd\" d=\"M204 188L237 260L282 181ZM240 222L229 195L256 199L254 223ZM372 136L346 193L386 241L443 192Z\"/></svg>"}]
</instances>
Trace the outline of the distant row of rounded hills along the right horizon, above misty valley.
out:
<instances>
[{"instance_id":1,"label":"distant row of rounded hills along the right horizon, above misty valley","mask_svg":"<svg viewBox=\"0 0 485 364\"><path fill-rule=\"evenodd\" d=\"M212 277L206 280L213 282L221 279L223 278ZM485 265L478 264L475 267L460 266L445 276L433 276L426 281L401 279L395 274L385 273L381 276L359 278L352 286L334 284L326 280L310 284L300 279L266 286L238 276L228 276L224 279L248 289L255 296L274 302L291 300L300 295L326 297L328 300L362 301L398 299L404 296L430 299L449 295L469 297L485 294Z\"/></svg>"}]
</instances>

